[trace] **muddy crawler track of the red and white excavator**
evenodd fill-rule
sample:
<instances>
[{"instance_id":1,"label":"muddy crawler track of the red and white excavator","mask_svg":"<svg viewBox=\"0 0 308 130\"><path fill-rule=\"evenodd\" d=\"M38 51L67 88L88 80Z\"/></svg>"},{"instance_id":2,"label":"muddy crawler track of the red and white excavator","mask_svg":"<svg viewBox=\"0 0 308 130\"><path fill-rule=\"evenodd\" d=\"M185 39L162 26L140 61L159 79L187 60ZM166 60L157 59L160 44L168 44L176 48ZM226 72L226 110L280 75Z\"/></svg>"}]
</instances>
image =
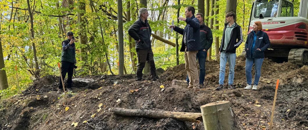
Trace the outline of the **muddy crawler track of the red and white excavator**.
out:
<instances>
[{"instance_id":1,"label":"muddy crawler track of the red and white excavator","mask_svg":"<svg viewBox=\"0 0 308 130\"><path fill-rule=\"evenodd\" d=\"M300 66L308 65L308 49L291 49L288 61Z\"/></svg>"}]
</instances>

